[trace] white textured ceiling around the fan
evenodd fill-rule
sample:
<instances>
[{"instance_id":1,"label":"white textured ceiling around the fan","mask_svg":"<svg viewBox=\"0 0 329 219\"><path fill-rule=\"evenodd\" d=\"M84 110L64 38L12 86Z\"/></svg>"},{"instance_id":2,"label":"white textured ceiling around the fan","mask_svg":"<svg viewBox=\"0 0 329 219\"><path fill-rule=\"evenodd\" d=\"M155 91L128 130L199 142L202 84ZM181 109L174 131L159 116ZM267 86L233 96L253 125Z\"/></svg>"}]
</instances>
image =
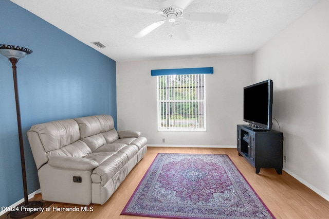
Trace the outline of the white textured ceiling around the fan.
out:
<instances>
[{"instance_id":1,"label":"white textured ceiling around the fan","mask_svg":"<svg viewBox=\"0 0 329 219\"><path fill-rule=\"evenodd\" d=\"M115 61L252 53L320 0L194 0L185 10L228 14L226 23L181 19L189 35L178 37L165 22L143 38L134 34L158 22L158 14L128 10L134 5L161 10L160 0L11 0ZM185 0L167 0L170 3ZM92 42L101 42L98 48Z\"/></svg>"}]
</instances>

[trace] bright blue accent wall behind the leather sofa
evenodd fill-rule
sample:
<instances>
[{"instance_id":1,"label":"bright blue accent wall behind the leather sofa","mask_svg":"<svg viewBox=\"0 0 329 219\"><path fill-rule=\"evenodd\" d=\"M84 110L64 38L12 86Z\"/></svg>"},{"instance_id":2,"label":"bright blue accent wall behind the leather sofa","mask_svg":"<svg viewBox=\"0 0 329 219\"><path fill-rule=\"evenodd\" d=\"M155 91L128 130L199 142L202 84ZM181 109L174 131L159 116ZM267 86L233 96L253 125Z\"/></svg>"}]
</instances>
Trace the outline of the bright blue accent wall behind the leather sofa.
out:
<instances>
[{"instance_id":1,"label":"bright blue accent wall behind the leather sofa","mask_svg":"<svg viewBox=\"0 0 329 219\"><path fill-rule=\"evenodd\" d=\"M52 120L109 114L115 120L116 63L13 4L0 0L0 44L33 50L17 63L28 194L39 180L26 132ZM0 55L0 206L24 197L11 63Z\"/></svg>"}]
</instances>

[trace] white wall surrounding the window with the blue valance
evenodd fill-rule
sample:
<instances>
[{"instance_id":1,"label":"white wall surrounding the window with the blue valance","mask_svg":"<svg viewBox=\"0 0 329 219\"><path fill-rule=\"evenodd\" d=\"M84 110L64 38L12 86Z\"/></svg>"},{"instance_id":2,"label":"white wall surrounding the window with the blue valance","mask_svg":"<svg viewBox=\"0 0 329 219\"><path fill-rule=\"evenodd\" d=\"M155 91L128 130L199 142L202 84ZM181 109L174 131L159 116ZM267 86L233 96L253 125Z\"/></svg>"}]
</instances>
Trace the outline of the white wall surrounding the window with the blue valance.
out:
<instances>
[{"instance_id":1,"label":"white wall surrounding the window with the blue valance","mask_svg":"<svg viewBox=\"0 0 329 219\"><path fill-rule=\"evenodd\" d=\"M244 123L243 87L252 82L252 65L252 55L117 62L118 130L138 130L149 145L236 147L236 124ZM206 76L207 131L157 131L157 84L151 69L191 67L214 67L214 74Z\"/></svg>"}]
</instances>

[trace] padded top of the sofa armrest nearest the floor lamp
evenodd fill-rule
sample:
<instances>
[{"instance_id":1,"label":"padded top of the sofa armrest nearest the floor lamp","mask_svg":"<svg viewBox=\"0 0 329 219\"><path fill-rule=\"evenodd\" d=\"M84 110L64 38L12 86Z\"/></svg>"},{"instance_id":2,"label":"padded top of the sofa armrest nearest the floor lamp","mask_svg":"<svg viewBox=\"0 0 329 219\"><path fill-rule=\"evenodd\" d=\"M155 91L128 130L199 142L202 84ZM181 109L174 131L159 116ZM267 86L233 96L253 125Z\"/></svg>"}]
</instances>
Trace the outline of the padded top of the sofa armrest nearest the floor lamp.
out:
<instances>
[{"instance_id":1,"label":"padded top of the sofa armrest nearest the floor lamp","mask_svg":"<svg viewBox=\"0 0 329 219\"><path fill-rule=\"evenodd\" d=\"M99 163L83 157L54 156L48 161L51 167L74 170L92 170L99 166Z\"/></svg>"}]
</instances>

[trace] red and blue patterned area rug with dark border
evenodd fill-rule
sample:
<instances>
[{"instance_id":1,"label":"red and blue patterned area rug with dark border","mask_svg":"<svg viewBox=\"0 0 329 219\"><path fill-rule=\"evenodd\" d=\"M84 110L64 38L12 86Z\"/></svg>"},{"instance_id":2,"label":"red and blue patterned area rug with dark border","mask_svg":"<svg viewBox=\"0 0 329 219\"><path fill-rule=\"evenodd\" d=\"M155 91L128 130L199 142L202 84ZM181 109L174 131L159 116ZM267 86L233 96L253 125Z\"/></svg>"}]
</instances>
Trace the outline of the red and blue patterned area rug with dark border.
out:
<instances>
[{"instance_id":1,"label":"red and blue patterned area rug with dark border","mask_svg":"<svg viewBox=\"0 0 329 219\"><path fill-rule=\"evenodd\" d=\"M121 214L274 218L225 154L159 153Z\"/></svg>"}]
</instances>

